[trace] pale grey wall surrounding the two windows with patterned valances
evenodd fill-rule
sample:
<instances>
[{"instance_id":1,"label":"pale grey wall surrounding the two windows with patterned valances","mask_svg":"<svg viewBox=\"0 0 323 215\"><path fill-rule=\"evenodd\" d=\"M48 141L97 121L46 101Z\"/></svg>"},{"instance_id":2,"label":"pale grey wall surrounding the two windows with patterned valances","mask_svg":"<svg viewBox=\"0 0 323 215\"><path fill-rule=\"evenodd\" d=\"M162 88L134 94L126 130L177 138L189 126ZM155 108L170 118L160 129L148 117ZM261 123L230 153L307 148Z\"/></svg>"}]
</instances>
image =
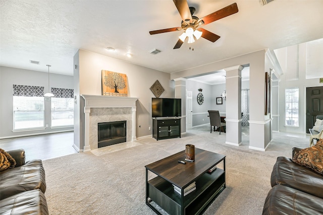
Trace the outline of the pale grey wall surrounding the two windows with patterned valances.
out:
<instances>
[{"instance_id":1,"label":"pale grey wall surrounding the two windows with patterned valances","mask_svg":"<svg viewBox=\"0 0 323 215\"><path fill-rule=\"evenodd\" d=\"M52 66L51 69L55 71L55 67ZM72 76L53 74L52 71L50 71L50 87L73 89ZM46 91L48 90L48 73L0 66L0 77L0 138L73 130L73 126L68 128L48 126L41 130L13 132L13 85L43 86ZM50 101L45 101L45 103L50 103ZM50 121L50 105L45 105L45 124L50 125Z\"/></svg>"}]
</instances>

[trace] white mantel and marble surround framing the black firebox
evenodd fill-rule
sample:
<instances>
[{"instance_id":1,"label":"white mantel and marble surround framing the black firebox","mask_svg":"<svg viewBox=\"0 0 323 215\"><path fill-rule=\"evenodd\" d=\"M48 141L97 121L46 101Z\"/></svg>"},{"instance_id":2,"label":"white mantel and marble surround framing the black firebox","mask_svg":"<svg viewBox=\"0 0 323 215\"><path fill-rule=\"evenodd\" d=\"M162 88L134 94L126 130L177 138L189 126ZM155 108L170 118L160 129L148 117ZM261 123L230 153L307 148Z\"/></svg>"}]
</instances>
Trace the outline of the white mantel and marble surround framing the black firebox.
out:
<instances>
[{"instance_id":1,"label":"white mantel and marble surround framing the black firebox","mask_svg":"<svg viewBox=\"0 0 323 215\"><path fill-rule=\"evenodd\" d=\"M81 95L84 105L84 150L97 149L97 123L127 121L127 142L136 140L136 101L134 97Z\"/></svg>"}]
</instances>

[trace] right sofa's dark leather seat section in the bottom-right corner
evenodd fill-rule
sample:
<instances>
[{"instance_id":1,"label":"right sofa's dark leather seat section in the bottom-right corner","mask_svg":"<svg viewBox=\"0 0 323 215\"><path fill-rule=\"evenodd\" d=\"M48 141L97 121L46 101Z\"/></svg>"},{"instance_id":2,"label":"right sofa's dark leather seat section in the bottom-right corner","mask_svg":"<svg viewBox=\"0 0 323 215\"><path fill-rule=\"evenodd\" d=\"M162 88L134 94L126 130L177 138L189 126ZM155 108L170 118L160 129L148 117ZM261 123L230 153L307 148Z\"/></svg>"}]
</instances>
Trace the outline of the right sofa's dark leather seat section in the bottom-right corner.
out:
<instances>
[{"instance_id":1,"label":"right sofa's dark leather seat section in the bottom-right corner","mask_svg":"<svg viewBox=\"0 0 323 215\"><path fill-rule=\"evenodd\" d=\"M276 185L268 192L262 214L321 214L322 211L323 199Z\"/></svg>"}]
</instances>

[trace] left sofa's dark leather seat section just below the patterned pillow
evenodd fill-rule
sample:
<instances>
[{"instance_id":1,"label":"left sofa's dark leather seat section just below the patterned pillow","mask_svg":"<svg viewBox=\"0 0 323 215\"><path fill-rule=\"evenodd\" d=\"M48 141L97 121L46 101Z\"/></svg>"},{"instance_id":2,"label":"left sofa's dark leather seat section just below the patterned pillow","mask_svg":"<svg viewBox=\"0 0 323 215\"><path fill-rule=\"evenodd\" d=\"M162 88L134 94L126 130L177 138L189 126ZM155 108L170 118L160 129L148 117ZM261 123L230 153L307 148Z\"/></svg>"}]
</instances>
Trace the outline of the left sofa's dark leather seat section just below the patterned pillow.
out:
<instances>
[{"instance_id":1,"label":"left sofa's dark leather seat section just below the patterned pillow","mask_svg":"<svg viewBox=\"0 0 323 215\"><path fill-rule=\"evenodd\" d=\"M27 190L46 191L45 171L41 160L0 172L0 200Z\"/></svg>"}]
</instances>

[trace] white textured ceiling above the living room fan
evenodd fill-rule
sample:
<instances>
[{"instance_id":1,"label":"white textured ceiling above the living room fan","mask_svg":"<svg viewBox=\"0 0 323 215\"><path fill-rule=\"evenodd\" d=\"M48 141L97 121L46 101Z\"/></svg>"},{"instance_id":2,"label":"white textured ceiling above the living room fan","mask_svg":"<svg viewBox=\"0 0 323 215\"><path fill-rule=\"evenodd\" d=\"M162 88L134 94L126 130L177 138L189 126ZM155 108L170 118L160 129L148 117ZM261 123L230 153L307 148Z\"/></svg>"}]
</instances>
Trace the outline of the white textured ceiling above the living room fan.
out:
<instances>
[{"instance_id":1,"label":"white textured ceiling above the living room fan","mask_svg":"<svg viewBox=\"0 0 323 215\"><path fill-rule=\"evenodd\" d=\"M261 49L277 49L323 38L323 1L189 0L201 18L236 2L239 12L205 25L221 38L204 38L173 49L182 32L149 35L178 27L171 0L0 1L0 65L73 75L73 56L85 49L134 64L174 73ZM106 47L115 52L107 52ZM160 53L149 51L157 48ZM129 52L132 58L125 54ZM39 65L30 60L40 61Z\"/></svg>"}]
</instances>

